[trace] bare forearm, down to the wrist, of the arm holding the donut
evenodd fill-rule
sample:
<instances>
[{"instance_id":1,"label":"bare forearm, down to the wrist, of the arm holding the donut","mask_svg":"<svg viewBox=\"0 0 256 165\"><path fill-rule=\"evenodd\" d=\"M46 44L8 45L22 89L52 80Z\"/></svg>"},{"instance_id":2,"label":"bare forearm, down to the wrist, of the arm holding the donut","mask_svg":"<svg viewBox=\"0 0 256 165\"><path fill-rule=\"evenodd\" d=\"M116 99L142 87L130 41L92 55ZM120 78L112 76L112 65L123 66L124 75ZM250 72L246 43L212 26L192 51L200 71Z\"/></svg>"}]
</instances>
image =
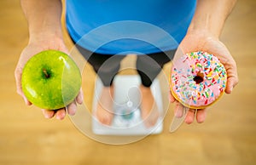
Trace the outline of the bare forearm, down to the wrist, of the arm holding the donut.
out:
<instances>
[{"instance_id":1,"label":"bare forearm, down to the wrist, of the arm holding the donut","mask_svg":"<svg viewBox=\"0 0 256 165\"><path fill-rule=\"evenodd\" d=\"M213 37L219 37L235 3L236 0L198 0L188 32L207 31Z\"/></svg>"}]
</instances>

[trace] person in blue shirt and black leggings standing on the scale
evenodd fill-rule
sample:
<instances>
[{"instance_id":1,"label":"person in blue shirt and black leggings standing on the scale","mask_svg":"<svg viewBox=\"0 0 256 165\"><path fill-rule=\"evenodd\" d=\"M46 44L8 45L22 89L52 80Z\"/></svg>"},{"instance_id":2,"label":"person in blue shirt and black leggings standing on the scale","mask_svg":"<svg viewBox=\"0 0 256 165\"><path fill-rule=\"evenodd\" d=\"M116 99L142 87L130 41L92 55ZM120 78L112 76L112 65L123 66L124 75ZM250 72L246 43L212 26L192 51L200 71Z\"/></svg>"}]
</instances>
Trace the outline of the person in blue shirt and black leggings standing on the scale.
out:
<instances>
[{"instance_id":1,"label":"person in blue shirt and black leggings standing on the scale","mask_svg":"<svg viewBox=\"0 0 256 165\"><path fill-rule=\"evenodd\" d=\"M230 94L232 88L238 83L236 62L229 50L218 40L218 37L224 26L224 21L235 3L236 0L149 0L147 2L137 0L67 0L66 21L70 37L72 37L74 43L77 43L79 51L94 66L95 71L104 83L100 99L101 104L98 104L96 111L99 121L107 125L112 122L113 112L111 107L113 103L111 102L111 97L113 97L114 88L112 80L119 69L119 61L123 59L125 52L132 51L144 54L137 56L137 70L143 83L140 88L143 95L142 117L143 119L147 118L144 121L146 126L153 126L159 114L155 108L152 108L154 98L148 87L159 73L160 68L166 62L172 60L172 55L177 46L175 47L175 44L171 42L166 44L165 37L158 38L163 41L159 45L160 48L156 48L147 42L132 40L132 38L109 41L116 33L122 35L127 33L131 34L131 37L136 37L141 34L140 32L143 32L146 36L157 36L157 32L152 32L148 28L143 28L141 29L142 31L132 27L118 28L116 33L116 29L107 28L100 31L100 33L93 33L89 37L85 37L87 38L86 41L90 41L88 43L80 42L84 35L86 36L90 31L101 26L127 20L139 21L159 27L179 43L178 49L181 49L183 53L201 50L217 55L227 70L228 84L225 92ZM21 6L28 20L30 40L20 54L20 60L15 70L15 78L18 94L24 98L26 105L31 105L26 100L20 86L22 68L26 61L33 54L45 49L58 49L66 53L68 51L63 42L61 32L62 7L60 0L21 0ZM97 47L99 43L106 44ZM153 41L153 43L158 43L158 41ZM178 55L175 54L174 58ZM104 66L103 64L111 58L114 58L112 65ZM153 62L150 63L149 61ZM149 67L152 64L155 65ZM101 66L105 68L100 69ZM172 94L170 100L172 103L177 103L175 114L180 117L182 115L181 106L172 97ZM76 102L81 104L82 101L83 96L82 92L80 92L77 99L71 105L68 105L67 113L73 115L76 111ZM58 111L43 110L43 113L47 118L56 116L58 119L63 119L66 115L64 108ZM197 111L195 114L195 111L191 109L185 122L193 122L195 115L197 122L204 122L206 110Z\"/></svg>"}]
</instances>

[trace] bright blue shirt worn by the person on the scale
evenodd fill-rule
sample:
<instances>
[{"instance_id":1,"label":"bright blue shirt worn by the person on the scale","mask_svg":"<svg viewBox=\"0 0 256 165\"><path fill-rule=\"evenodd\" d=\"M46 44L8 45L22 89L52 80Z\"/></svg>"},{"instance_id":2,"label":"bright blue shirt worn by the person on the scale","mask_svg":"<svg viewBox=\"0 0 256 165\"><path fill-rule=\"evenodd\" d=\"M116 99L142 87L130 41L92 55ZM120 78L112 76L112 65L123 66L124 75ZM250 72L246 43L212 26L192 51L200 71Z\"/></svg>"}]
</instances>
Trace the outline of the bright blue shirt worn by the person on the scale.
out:
<instances>
[{"instance_id":1,"label":"bright blue shirt worn by the person on the scale","mask_svg":"<svg viewBox=\"0 0 256 165\"><path fill-rule=\"evenodd\" d=\"M99 54L152 54L177 48L196 0L67 0L67 31Z\"/></svg>"}]
</instances>

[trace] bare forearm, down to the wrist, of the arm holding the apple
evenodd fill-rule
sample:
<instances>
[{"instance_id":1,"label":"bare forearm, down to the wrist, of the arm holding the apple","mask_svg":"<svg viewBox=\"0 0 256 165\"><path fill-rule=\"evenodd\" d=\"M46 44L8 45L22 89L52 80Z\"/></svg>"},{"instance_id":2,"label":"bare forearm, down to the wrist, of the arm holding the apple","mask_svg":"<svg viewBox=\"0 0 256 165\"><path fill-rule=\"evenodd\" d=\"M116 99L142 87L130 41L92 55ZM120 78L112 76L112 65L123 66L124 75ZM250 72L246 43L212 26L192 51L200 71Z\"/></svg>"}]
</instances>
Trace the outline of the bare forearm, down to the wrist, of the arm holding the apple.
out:
<instances>
[{"instance_id":1,"label":"bare forearm, down to the wrist, of the arm holding the apple","mask_svg":"<svg viewBox=\"0 0 256 165\"><path fill-rule=\"evenodd\" d=\"M30 40L38 37L62 37L61 0L20 0L28 21Z\"/></svg>"}]
</instances>

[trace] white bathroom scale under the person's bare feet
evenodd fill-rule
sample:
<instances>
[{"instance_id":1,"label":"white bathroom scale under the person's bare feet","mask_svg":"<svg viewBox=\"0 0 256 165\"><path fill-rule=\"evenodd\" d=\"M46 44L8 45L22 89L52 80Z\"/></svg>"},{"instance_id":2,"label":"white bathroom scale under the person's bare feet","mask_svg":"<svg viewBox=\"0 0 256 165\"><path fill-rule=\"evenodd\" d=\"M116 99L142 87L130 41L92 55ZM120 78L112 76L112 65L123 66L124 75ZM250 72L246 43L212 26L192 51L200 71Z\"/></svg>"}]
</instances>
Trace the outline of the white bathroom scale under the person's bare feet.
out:
<instances>
[{"instance_id":1,"label":"white bathroom scale under the person's bare feet","mask_svg":"<svg viewBox=\"0 0 256 165\"><path fill-rule=\"evenodd\" d=\"M99 135L143 135L143 134L160 134L163 129L163 105L160 90L160 82L155 79L151 85L151 91L154 94L155 104L160 111L160 117L152 128L146 128L141 118L140 103L141 94L139 85L140 77L137 75L117 75L113 80L115 87L113 98L113 122L107 126L98 122L95 115L92 117L92 131ZM97 78L95 94L93 100L93 114L96 111L98 98L100 98L103 84Z\"/></svg>"}]
</instances>

